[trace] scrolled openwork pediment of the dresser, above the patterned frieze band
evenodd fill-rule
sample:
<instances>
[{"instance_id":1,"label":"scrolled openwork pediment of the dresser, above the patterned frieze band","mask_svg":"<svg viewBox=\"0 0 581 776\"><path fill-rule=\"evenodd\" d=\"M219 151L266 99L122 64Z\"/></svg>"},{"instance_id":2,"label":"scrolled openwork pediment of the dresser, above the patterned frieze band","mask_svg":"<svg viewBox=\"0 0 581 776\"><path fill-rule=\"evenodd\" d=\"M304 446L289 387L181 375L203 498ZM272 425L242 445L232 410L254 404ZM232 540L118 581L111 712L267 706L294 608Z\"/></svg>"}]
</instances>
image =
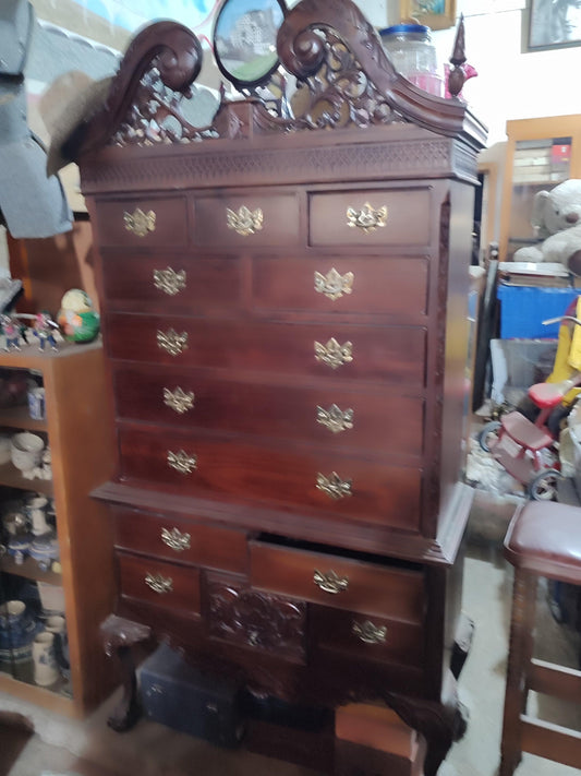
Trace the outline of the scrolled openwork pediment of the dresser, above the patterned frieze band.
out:
<instances>
[{"instance_id":1,"label":"scrolled openwork pediment of the dresser, above the patterned frieze band","mask_svg":"<svg viewBox=\"0 0 581 776\"><path fill-rule=\"evenodd\" d=\"M286 15L277 49L280 67L273 79L279 99L228 100L222 89L211 124L195 127L186 117L196 115L192 84L202 46L186 27L157 22L135 37L105 105L75 129L63 154L77 160L106 144L183 144L409 122L462 135L472 148L482 145L485 129L465 106L410 84L348 0L302 0Z\"/></svg>"}]
</instances>

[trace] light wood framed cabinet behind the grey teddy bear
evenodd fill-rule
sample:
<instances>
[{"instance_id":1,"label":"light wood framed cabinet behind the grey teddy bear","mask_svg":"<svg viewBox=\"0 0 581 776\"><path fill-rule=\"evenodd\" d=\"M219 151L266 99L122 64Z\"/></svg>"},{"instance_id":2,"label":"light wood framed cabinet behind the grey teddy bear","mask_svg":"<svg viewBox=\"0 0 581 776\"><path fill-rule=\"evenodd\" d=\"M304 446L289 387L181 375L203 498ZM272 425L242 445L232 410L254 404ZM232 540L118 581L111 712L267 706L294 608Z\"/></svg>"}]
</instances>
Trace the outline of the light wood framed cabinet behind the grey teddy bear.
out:
<instances>
[{"instance_id":1,"label":"light wood framed cabinet behind the grey teddy bear","mask_svg":"<svg viewBox=\"0 0 581 776\"><path fill-rule=\"evenodd\" d=\"M507 121L500 211L500 261L535 242L534 195L568 178L581 178L581 116Z\"/></svg>"}]
</instances>

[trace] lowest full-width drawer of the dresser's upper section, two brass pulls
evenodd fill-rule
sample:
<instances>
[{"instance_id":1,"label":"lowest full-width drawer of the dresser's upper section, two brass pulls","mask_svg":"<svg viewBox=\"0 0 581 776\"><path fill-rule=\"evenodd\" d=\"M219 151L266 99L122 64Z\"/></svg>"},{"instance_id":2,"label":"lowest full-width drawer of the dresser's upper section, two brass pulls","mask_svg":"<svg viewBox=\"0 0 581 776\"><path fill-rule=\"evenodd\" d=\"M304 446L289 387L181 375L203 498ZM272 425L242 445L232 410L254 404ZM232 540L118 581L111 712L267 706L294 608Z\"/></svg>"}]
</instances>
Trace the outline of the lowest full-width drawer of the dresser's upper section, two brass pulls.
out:
<instances>
[{"instance_id":1,"label":"lowest full-width drawer of the dresser's upper section, two brass pulls","mask_svg":"<svg viewBox=\"0 0 581 776\"><path fill-rule=\"evenodd\" d=\"M121 475L170 492L268 500L411 532L420 525L421 470L313 451L123 429ZM324 478L324 479L322 479Z\"/></svg>"}]
</instances>

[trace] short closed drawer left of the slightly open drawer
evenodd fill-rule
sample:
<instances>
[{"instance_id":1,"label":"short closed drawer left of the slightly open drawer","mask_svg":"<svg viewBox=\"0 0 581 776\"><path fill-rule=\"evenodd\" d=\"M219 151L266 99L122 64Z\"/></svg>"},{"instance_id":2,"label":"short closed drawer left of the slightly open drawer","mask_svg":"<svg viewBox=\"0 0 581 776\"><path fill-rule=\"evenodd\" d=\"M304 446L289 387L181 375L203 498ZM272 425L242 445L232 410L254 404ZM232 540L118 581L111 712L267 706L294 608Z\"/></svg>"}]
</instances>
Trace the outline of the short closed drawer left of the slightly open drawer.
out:
<instances>
[{"instance_id":1,"label":"short closed drawer left of the slightly open drawer","mask_svg":"<svg viewBox=\"0 0 581 776\"><path fill-rule=\"evenodd\" d=\"M238 530L180 521L148 512L112 508L116 544L160 559L243 573L246 535Z\"/></svg>"}]
</instances>

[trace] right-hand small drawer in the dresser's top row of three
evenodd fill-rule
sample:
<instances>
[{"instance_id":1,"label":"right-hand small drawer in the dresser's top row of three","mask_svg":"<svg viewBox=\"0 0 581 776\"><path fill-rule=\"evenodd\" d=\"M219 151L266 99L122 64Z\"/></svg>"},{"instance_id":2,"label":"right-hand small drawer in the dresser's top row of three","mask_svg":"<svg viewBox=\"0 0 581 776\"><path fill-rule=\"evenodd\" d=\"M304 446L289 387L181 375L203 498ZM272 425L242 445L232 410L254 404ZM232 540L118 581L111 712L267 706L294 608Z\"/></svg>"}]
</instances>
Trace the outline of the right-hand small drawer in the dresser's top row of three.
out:
<instances>
[{"instance_id":1,"label":"right-hand small drawer in the dresser's top row of three","mask_svg":"<svg viewBox=\"0 0 581 776\"><path fill-rule=\"evenodd\" d=\"M429 189L373 189L320 192L308 195L311 246L427 246L429 244ZM349 211L387 208L385 226L350 226ZM412 216L412 219L410 218ZM413 227L410 224L413 222Z\"/></svg>"}]
</instances>

